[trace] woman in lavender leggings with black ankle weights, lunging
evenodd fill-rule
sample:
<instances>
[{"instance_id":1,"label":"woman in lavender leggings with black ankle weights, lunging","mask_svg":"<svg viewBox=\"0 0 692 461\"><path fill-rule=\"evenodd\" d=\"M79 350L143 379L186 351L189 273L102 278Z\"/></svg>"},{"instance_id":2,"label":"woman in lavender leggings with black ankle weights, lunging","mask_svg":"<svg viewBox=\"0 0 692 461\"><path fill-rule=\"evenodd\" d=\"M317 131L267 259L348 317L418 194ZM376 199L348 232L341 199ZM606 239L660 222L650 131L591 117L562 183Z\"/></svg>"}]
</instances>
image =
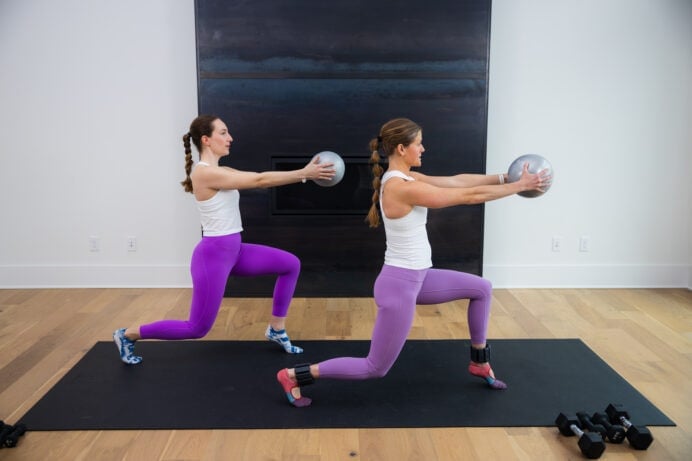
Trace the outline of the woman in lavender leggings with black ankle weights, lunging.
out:
<instances>
[{"instance_id":1,"label":"woman in lavender leggings with black ankle weights, lunging","mask_svg":"<svg viewBox=\"0 0 692 461\"><path fill-rule=\"evenodd\" d=\"M405 118L390 120L370 141L373 164L371 227L384 222L387 246L374 296L377 318L367 357L338 357L317 364L301 364L277 373L288 401L307 406L301 386L317 378L371 379L383 377L396 361L413 323L416 304L439 304L469 299L468 323L471 336L469 373L486 381L492 389L505 389L490 367L486 344L492 286L482 277L432 267L426 231L428 208L475 205L526 190L542 190L550 184L545 171L531 174L524 165L521 178L506 182L506 174L427 176L411 171L421 166L422 129ZM384 172L380 152L387 156ZM384 172L384 175L383 175Z\"/></svg>"}]
</instances>

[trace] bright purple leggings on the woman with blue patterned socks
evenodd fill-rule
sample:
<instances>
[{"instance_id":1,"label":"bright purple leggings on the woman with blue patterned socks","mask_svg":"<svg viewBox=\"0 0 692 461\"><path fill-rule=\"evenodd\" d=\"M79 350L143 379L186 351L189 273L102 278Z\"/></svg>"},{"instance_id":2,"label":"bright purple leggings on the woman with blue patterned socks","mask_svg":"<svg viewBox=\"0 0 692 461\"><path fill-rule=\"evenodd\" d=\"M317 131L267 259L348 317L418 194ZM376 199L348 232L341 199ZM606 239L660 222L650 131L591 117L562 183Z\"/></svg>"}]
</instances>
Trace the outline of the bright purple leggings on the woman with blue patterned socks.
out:
<instances>
[{"instance_id":1,"label":"bright purple leggings on the woman with blue patterned socks","mask_svg":"<svg viewBox=\"0 0 692 461\"><path fill-rule=\"evenodd\" d=\"M142 339L195 339L206 335L221 307L229 275L278 275L272 314L286 317L300 274L293 254L242 243L240 233L202 237L192 253L192 305L188 320L161 320L139 328Z\"/></svg>"}]
</instances>

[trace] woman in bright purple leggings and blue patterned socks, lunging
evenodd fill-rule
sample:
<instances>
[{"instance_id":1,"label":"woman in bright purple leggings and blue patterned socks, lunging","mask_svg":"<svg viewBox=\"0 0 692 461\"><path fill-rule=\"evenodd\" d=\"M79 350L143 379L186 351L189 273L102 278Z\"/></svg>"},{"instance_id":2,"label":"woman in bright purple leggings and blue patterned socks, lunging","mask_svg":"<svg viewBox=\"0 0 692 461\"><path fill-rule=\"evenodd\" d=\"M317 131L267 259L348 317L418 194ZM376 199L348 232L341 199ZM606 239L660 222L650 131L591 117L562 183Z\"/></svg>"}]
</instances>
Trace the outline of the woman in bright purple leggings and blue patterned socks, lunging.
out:
<instances>
[{"instance_id":1,"label":"woman in bright purple leggings and blue patterned socks, lunging","mask_svg":"<svg viewBox=\"0 0 692 461\"><path fill-rule=\"evenodd\" d=\"M135 328L121 328L113 333L120 359L130 365L142 358L134 354L139 339L194 339L205 336L216 320L229 275L276 275L272 317L265 336L290 354L303 352L291 344L285 323L300 273L300 260L293 254L264 245L245 243L239 192L242 189L268 188L305 182L307 179L331 179L332 163L311 160L305 167L292 171L261 173L219 166L229 154L233 138L225 123L214 115L195 118L183 135L185 147L186 192L194 195L202 221L202 239L195 247L190 264L192 303L188 320L160 320ZM192 149L199 152L193 168Z\"/></svg>"}]
</instances>

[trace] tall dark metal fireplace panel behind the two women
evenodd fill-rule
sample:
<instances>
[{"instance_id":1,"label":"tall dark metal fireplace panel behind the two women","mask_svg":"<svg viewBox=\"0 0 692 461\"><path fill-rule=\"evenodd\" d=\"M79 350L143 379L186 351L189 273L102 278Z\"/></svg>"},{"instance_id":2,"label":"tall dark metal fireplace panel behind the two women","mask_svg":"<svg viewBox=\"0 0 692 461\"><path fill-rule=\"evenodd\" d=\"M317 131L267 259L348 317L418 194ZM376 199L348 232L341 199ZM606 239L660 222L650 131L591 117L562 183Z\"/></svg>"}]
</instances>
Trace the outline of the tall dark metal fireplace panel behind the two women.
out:
<instances>
[{"instance_id":1,"label":"tall dark metal fireplace panel behind the two women","mask_svg":"<svg viewBox=\"0 0 692 461\"><path fill-rule=\"evenodd\" d=\"M485 171L489 0L197 0L195 8L199 112L228 125L226 164L300 167L295 159L331 150L365 165L382 123L409 117L423 127L422 172ZM364 222L371 178L354 171L357 180L341 187L241 193L244 241L301 259L296 296L372 296L384 233ZM286 204L306 194L319 197L292 214ZM428 232L437 267L481 274L482 206L431 210ZM270 296L273 283L231 279L226 294Z\"/></svg>"}]
</instances>

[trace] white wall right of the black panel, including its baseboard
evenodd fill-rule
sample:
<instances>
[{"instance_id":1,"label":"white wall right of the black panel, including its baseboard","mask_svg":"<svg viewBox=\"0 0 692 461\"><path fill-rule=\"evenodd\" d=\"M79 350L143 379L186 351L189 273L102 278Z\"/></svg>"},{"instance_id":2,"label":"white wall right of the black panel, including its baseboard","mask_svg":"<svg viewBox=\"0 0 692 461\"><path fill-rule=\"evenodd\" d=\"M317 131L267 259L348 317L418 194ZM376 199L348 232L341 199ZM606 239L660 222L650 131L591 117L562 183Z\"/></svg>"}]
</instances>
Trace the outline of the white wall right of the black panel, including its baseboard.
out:
<instances>
[{"instance_id":1,"label":"white wall right of the black panel, including its baseboard","mask_svg":"<svg viewBox=\"0 0 692 461\"><path fill-rule=\"evenodd\" d=\"M689 0L495 0L487 168L539 153L555 182L486 205L484 275L692 287L690 82Z\"/></svg>"}]
</instances>

